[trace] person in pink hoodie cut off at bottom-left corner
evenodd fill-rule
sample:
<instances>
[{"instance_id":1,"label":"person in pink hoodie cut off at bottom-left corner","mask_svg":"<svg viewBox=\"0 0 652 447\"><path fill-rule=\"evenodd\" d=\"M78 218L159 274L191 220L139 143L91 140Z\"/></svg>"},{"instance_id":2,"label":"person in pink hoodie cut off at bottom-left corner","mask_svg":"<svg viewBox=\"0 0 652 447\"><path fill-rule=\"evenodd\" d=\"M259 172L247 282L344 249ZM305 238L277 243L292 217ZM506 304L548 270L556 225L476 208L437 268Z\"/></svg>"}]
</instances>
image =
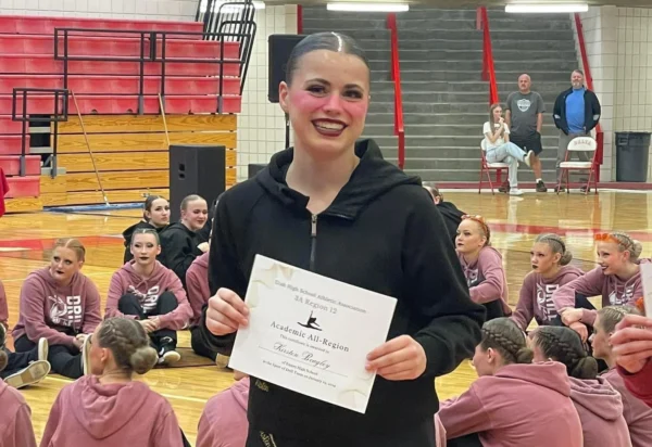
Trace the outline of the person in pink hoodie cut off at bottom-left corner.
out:
<instances>
[{"instance_id":1,"label":"person in pink hoodie cut off at bottom-left corner","mask_svg":"<svg viewBox=\"0 0 652 447\"><path fill-rule=\"evenodd\" d=\"M0 372L8 358L0 350ZM0 380L0 445L2 447L36 447L32 427L32 410L21 393Z\"/></svg>"}]
</instances>

